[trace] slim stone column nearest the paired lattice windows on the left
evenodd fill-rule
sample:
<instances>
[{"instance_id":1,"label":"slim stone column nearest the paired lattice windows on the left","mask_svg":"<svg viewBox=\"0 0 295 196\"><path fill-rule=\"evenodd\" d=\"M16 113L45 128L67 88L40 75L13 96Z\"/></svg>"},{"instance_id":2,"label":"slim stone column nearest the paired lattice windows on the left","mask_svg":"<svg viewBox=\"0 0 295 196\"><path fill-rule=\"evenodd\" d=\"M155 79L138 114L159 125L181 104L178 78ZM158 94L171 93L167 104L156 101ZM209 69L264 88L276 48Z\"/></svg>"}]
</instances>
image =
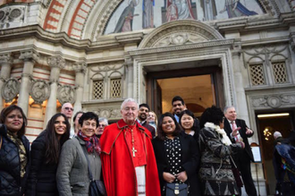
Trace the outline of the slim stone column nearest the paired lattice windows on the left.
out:
<instances>
[{"instance_id":1,"label":"slim stone column nearest the paired lattice windows on the left","mask_svg":"<svg viewBox=\"0 0 295 196\"><path fill-rule=\"evenodd\" d=\"M86 72L87 65L85 63L76 63L73 65L73 69L76 72L75 86L76 86L76 98L74 105L74 112L82 110L82 99L83 99L83 86L84 86L84 74Z\"/></svg>"}]
</instances>

